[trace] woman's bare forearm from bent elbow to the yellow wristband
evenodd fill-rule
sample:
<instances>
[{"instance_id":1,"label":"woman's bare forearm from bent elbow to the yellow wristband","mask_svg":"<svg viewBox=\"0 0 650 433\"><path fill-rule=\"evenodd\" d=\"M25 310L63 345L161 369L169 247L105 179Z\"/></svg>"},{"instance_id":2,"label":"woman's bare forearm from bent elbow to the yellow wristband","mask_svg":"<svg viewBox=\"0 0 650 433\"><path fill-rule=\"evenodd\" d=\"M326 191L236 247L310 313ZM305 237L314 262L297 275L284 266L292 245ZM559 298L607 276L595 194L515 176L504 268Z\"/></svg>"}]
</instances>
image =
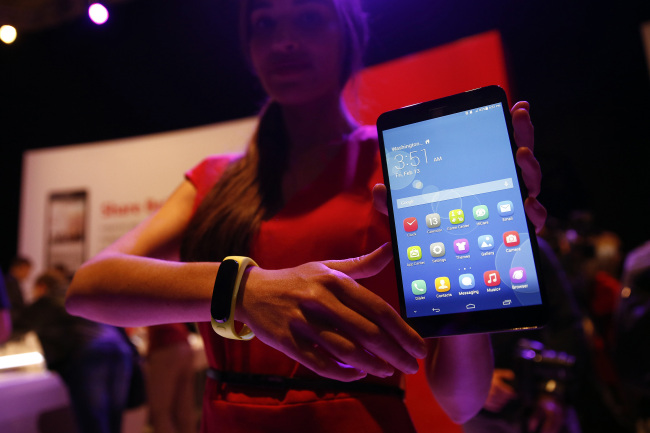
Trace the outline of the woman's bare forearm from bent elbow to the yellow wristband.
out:
<instances>
[{"instance_id":1,"label":"woman's bare forearm from bent elbow to the yellow wristband","mask_svg":"<svg viewBox=\"0 0 650 433\"><path fill-rule=\"evenodd\" d=\"M100 255L75 273L66 308L115 326L208 321L218 268L218 263Z\"/></svg>"}]
</instances>

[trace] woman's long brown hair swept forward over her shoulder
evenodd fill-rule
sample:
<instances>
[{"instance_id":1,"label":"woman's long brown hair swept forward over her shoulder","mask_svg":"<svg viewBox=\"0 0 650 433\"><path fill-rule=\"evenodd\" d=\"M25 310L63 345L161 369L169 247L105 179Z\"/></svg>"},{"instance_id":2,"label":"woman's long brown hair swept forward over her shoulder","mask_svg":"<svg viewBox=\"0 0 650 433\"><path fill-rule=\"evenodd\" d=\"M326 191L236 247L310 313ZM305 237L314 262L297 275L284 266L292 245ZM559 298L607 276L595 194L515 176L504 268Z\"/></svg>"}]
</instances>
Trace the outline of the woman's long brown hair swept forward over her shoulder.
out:
<instances>
[{"instance_id":1,"label":"woman's long brown hair swept forward over her shoulder","mask_svg":"<svg viewBox=\"0 0 650 433\"><path fill-rule=\"evenodd\" d=\"M331 0L343 33L341 88L361 68L367 39L359 0ZM240 36L249 55L252 0L241 0ZM234 160L203 199L181 243L181 260L221 261L250 254L263 220L282 207L282 177L287 169L288 138L282 110L269 102L246 153Z\"/></svg>"}]
</instances>

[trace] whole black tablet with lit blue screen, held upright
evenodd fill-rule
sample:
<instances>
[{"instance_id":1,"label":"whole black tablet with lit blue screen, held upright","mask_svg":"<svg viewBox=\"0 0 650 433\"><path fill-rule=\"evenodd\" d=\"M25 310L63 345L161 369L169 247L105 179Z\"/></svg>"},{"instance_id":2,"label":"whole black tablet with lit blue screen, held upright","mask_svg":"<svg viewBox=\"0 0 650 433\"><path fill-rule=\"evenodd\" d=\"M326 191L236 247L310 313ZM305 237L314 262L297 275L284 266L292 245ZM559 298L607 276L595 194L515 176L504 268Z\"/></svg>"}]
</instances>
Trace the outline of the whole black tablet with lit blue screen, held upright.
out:
<instances>
[{"instance_id":1,"label":"whole black tablet with lit blue screen, held upright","mask_svg":"<svg viewBox=\"0 0 650 433\"><path fill-rule=\"evenodd\" d=\"M537 240L503 89L389 111L377 130L406 322L423 337L543 325Z\"/></svg>"}]
</instances>

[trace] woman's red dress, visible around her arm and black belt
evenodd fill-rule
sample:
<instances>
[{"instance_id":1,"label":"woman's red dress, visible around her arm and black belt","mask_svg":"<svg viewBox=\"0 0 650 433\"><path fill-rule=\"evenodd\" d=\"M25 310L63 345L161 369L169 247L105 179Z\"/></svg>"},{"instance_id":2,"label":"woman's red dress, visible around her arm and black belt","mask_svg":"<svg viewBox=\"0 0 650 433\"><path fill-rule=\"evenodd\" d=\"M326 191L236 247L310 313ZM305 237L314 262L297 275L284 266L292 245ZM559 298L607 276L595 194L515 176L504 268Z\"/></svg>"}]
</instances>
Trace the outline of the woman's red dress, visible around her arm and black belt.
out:
<instances>
[{"instance_id":1,"label":"woman's red dress, visible around her arm and black belt","mask_svg":"<svg viewBox=\"0 0 650 433\"><path fill-rule=\"evenodd\" d=\"M213 156L187 173L197 189L195 206L219 179L233 156ZM354 131L320 176L260 227L251 257L266 269L310 261L347 259L369 253L390 240L388 220L372 206L372 188L383 183L376 131ZM394 269L360 280L398 309ZM199 324L210 367L283 377L317 375L257 339L247 342L216 335ZM364 381L402 386L399 373ZM208 380L202 432L414 432L404 401L397 395L364 392L251 389Z\"/></svg>"}]
</instances>

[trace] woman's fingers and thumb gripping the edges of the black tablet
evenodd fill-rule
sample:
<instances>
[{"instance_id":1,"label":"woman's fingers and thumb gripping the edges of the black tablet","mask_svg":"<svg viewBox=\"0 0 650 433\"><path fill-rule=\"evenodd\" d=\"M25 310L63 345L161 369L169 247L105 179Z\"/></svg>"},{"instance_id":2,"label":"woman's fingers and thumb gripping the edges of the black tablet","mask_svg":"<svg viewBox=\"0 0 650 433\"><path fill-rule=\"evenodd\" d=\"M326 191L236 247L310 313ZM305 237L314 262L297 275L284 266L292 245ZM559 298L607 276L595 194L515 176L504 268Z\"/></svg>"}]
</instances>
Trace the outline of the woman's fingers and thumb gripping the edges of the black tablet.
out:
<instances>
[{"instance_id":1,"label":"woman's fingers and thumb gripping the edges of the black tablet","mask_svg":"<svg viewBox=\"0 0 650 433\"><path fill-rule=\"evenodd\" d=\"M519 147L515 158L517 164L521 167L524 183L528 189L528 198L524 202L524 209L526 210L526 215L528 215L528 218L535 226L535 230L539 233L544 227L547 213L544 206L537 201L537 195L539 195L542 186L542 170L533 154L535 136L533 124L530 121L529 110L530 105L528 102L520 101L512 107L510 114L512 116L512 126L515 131L515 142L517 143L517 147ZM386 208L386 186L377 184L372 193L375 209L384 215L388 215Z\"/></svg>"}]
</instances>

